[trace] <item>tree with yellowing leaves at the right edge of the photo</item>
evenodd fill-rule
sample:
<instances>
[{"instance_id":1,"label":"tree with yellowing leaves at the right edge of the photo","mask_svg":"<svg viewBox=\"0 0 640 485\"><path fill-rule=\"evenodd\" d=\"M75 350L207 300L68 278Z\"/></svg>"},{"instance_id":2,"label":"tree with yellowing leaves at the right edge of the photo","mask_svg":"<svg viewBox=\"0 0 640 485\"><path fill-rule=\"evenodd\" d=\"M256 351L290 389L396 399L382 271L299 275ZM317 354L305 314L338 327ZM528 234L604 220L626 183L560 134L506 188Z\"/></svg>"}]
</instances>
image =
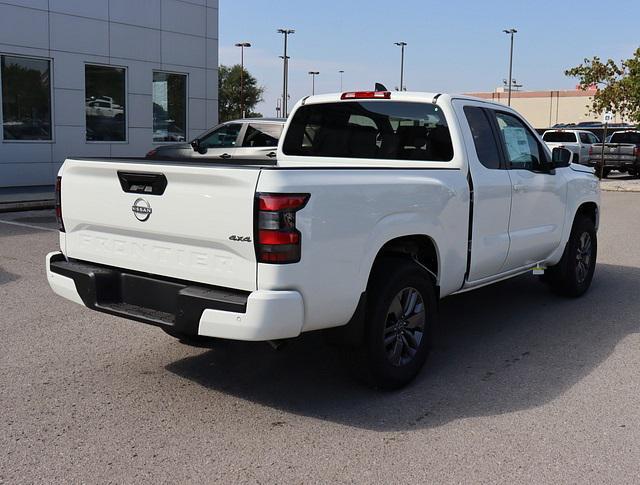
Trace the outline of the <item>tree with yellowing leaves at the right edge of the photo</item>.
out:
<instances>
[{"instance_id":1,"label":"tree with yellowing leaves at the right edge of the photo","mask_svg":"<svg viewBox=\"0 0 640 485\"><path fill-rule=\"evenodd\" d=\"M611 111L640 124L640 48L620 64L612 59L602 62L599 57L593 57L566 70L565 75L577 77L583 91L597 87L591 113Z\"/></svg>"}]
</instances>

